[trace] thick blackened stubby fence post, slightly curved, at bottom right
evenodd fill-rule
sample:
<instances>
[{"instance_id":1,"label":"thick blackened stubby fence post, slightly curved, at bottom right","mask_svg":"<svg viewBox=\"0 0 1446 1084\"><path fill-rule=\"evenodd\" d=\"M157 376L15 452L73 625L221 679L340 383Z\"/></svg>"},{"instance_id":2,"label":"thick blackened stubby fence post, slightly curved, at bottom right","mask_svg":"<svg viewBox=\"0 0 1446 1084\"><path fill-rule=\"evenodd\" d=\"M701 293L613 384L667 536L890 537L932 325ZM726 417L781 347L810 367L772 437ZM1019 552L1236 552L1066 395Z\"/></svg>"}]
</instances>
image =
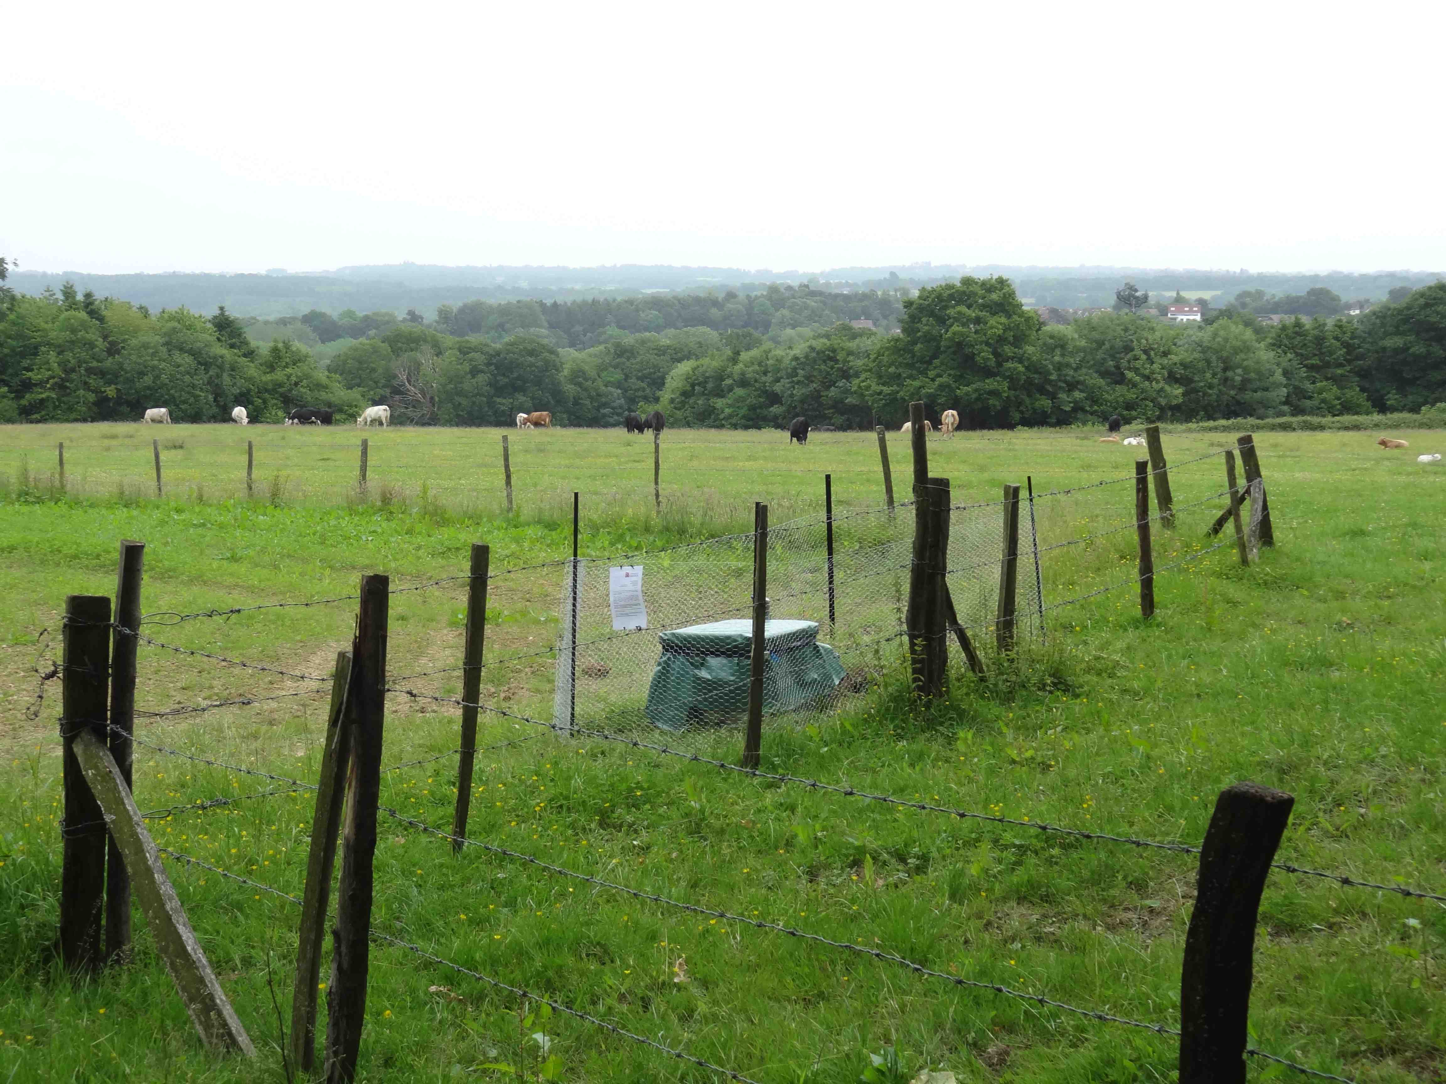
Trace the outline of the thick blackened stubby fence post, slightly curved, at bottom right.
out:
<instances>
[{"instance_id":1,"label":"thick blackened stubby fence post, slightly curved, at bottom right","mask_svg":"<svg viewBox=\"0 0 1446 1084\"><path fill-rule=\"evenodd\" d=\"M1294 802L1255 783L1235 783L1215 802L1184 939L1180 1084L1245 1084L1255 921Z\"/></svg>"}]
</instances>

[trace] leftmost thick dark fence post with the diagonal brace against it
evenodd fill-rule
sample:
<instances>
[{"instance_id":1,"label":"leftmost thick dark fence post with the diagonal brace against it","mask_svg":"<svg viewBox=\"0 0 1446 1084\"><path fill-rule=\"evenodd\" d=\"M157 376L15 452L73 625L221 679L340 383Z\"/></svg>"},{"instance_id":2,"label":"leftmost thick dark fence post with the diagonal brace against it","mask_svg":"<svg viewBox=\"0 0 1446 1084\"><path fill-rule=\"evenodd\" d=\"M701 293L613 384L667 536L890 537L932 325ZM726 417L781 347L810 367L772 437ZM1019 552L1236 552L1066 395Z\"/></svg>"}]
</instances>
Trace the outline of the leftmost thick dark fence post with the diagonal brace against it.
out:
<instances>
[{"instance_id":1,"label":"leftmost thick dark fence post with the diagonal brace against it","mask_svg":"<svg viewBox=\"0 0 1446 1084\"><path fill-rule=\"evenodd\" d=\"M65 820L61 822L61 957L69 971L101 963L106 896L106 820L75 759L81 731L104 741L106 682L110 668L110 598L65 598L61 655L61 737Z\"/></svg>"}]
</instances>

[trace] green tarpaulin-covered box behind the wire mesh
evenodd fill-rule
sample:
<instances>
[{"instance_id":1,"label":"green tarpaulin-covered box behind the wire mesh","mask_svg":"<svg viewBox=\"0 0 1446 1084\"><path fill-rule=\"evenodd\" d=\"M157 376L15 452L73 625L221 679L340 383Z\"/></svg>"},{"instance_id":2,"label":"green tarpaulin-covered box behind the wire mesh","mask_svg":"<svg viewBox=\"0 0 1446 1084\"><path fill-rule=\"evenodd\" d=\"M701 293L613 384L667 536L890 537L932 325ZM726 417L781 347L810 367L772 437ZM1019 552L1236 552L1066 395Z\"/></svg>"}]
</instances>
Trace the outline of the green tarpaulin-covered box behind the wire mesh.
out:
<instances>
[{"instance_id":1,"label":"green tarpaulin-covered box behind the wire mesh","mask_svg":"<svg viewBox=\"0 0 1446 1084\"><path fill-rule=\"evenodd\" d=\"M763 711L788 711L831 692L843 663L818 643L817 621L768 620ZM753 621L736 619L658 633L662 655L648 687L648 721L664 730L736 723L748 714Z\"/></svg>"}]
</instances>

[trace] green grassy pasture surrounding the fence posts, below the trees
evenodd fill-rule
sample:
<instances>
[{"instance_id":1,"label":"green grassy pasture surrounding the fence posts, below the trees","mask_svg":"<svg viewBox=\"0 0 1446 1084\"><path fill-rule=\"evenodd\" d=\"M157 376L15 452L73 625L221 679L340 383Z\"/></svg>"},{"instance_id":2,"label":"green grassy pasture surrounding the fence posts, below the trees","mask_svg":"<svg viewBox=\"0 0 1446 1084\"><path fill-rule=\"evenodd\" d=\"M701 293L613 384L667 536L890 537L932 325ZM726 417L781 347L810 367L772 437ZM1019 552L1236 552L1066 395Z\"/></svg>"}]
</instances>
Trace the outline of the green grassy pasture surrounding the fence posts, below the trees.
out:
<instances>
[{"instance_id":1,"label":"green grassy pasture surrounding the fence posts, below the trees","mask_svg":"<svg viewBox=\"0 0 1446 1084\"><path fill-rule=\"evenodd\" d=\"M114 434L114 435L110 435ZM150 487L152 436L168 497ZM69 593L110 594L116 542L146 541L147 611L189 613L393 587L466 571L487 541L493 568L570 552L568 493L583 491L584 554L656 548L745 529L752 502L774 520L821 509L821 474L842 507L881 502L872 435L667 432L664 509L652 507L651 442L583 431L509 434L518 507L502 500L500 432L372 431L370 487L356 496L356 431L250 426L26 426L0 431L0 1080L282 1081L278 1015L289 1022L296 908L215 873L172 866L176 890L262 1057L218 1059L194 1036L137 916L139 957L93 980L54 961L59 887L56 682ZM257 494L244 494L244 441ZM48 490L67 444L68 497ZM1157 532L1158 614L1132 588L1051 610L1047 645L989 659L980 687L956 672L947 704L911 711L899 668L837 715L769 727L763 766L904 798L1071 827L1197 843L1215 793L1239 779L1296 795L1281 859L1369 880L1446 889L1446 480L1419 451L1369 435L1278 434L1259 452L1278 545L1241 569L1232 546L1199 555L1220 506L1218 435L1167 434L1176 500ZM29 448L22 448L22 441ZM1433 441L1439 444L1433 444ZM1427 447L1430 445L1430 447ZM49 448L49 451L45 451ZM239 449L239 451L237 451ZM1131 471L1135 449L1093 434L972 434L931 442L931 470L957 502L998 500ZM42 463L42 454L49 460ZM22 470L22 455L26 457ZM908 447L891 438L899 499ZM272 478L282 478L273 487ZM425 486L425 490L424 490ZM1045 497L1041 545L1132 519L1128 483ZM964 513L956 513L963 516ZM956 522L963 522L956 520ZM1132 530L1048 551L1048 604L1132 574ZM461 582L392 601L389 665L460 662ZM489 659L557 635L560 572L493 581ZM159 617L159 621L166 620ZM201 619L149 633L178 646L327 675L354 603ZM46 632L48 630L48 632ZM305 688L161 649L142 650L146 710ZM547 718L547 656L486 671L487 702ZM408 684L455 695L455 675ZM36 689L45 700L36 704ZM315 695L205 714L142 718L169 749L314 779L325 687ZM451 708L388 707L385 763L455 747ZM35 718L30 718L30 715ZM545 731L479 760L470 835L628 887L899 952L946 974L1002 983L1151 1023L1178 1015L1189 856L1080 843L746 780L604 741ZM484 720L482 746L532 737ZM736 736L717 740L722 759ZM450 757L389 773L382 801L444 827ZM143 809L278 786L137 749ZM155 821L163 846L299 893L309 795L273 795ZM765 1084L853 1081L894 1045L912 1072L960 1081L1168 1081L1174 1045L735 921L697 916L447 844L383 818L377 929ZM1446 913L1434 903L1272 873L1257 942L1252 1042L1361 1081L1446 1080ZM551 1036L565 1081L717 1080L658 1051L555 1015L522 1028L516 997L395 947L373 950L363 1078L535 1078ZM680 963L681 961L681 963ZM680 981L685 980L685 981ZM528 1006L531 1007L535 1006ZM1251 1080L1294 1074L1252 1059Z\"/></svg>"}]
</instances>

